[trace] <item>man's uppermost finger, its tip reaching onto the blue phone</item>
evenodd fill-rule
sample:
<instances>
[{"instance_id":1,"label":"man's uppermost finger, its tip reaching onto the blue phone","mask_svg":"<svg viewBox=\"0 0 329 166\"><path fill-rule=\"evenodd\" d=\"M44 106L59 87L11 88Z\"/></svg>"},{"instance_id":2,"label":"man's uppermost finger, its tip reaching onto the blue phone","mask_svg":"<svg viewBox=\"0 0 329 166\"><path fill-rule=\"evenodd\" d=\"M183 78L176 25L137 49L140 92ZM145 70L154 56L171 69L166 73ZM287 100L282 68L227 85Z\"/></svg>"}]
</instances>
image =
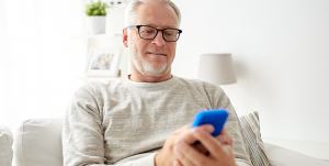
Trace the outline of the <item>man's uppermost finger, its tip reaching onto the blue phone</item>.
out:
<instances>
[{"instance_id":1,"label":"man's uppermost finger, its tip reaching onto the blue phone","mask_svg":"<svg viewBox=\"0 0 329 166\"><path fill-rule=\"evenodd\" d=\"M197 141L197 139L193 134L195 130L203 130L207 131L208 133L212 133L215 129L212 124L204 124L190 130L185 130L181 133L181 135L179 135L174 143L178 143L179 141L184 141L186 144L194 144Z\"/></svg>"}]
</instances>

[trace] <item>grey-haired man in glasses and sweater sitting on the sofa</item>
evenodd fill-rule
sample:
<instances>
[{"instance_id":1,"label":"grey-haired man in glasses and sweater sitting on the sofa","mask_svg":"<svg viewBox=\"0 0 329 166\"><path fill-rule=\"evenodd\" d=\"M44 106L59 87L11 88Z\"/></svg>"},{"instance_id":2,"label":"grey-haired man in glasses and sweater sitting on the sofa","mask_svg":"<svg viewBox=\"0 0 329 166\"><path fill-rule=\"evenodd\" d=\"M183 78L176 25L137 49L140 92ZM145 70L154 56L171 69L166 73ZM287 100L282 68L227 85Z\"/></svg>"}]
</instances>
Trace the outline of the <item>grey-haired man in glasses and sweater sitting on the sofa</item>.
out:
<instances>
[{"instance_id":1,"label":"grey-haired man in glasses and sweater sitting on the sofa","mask_svg":"<svg viewBox=\"0 0 329 166\"><path fill-rule=\"evenodd\" d=\"M63 131L65 166L250 165L237 114L216 85L171 75L181 14L170 0L135 0L123 43L132 74L81 87ZM191 129L197 111L225 108L226 129ZM193 144L198 141L200 144Z\"/></svg>"}]
</instances>

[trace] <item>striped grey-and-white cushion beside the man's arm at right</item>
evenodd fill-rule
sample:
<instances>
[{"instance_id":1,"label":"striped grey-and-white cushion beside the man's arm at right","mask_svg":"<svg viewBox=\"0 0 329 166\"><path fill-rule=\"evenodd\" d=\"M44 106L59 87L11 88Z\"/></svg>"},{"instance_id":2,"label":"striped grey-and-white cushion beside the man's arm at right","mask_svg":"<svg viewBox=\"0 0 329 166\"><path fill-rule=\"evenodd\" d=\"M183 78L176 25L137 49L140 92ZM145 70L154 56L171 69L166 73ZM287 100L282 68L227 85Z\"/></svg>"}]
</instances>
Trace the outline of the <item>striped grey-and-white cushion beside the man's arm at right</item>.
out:
<instances>
[{"instance_id":1,"label":"striped grey-and-white cushion beside the man's arm at right","mask_svg":"<svg viewBox=\"0 0 329 166\"><path fill-rule=\"evenodd\" d=\"M270 166L266 150L260 133L258 112L239 118L247 143L247 151L253 166Z\"/></svg>"}]
</instances>

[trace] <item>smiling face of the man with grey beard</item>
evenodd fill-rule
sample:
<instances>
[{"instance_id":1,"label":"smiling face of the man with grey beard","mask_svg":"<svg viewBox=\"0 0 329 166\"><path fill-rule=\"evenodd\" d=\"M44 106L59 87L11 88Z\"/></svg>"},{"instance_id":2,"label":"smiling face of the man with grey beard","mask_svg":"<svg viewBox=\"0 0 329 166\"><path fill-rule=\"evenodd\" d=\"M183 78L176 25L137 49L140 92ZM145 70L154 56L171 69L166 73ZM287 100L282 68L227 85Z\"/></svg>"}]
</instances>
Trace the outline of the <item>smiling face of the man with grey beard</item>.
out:
<instances>
[{"instance_id":1,"label":"smiling face of the man with grey beard","mask_svg":"<svg viewBox=\"0 0 329 166\"><path fill-rule=\"evenodd\" d=\"M144 2L136 10L136 20L133 25L178 29L178 18L169 4ZM137 29L131 29L128 33L125 46L129 51L133 70L148 77L163 77L171 71L177 42L166 42L160 31L154 40L140 38Z\"/></svg>"}]
</instances>

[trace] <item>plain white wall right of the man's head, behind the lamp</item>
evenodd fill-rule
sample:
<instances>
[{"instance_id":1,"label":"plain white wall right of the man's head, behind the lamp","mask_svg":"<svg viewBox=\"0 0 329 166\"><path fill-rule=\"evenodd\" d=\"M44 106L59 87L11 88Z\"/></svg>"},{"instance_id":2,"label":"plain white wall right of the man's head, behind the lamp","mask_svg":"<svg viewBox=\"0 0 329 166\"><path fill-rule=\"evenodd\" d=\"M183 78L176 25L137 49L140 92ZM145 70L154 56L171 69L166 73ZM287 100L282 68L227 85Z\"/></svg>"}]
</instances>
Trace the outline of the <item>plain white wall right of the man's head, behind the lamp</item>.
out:
<instances>
[{"instance_id":1,"label":"plain white wall right of the man's head, behind the lamp","mask_svg":"<svg viewBox=\"0 0 329 166\"><path fill-rule=\"evenodd\" d=\"M238 114L260 112L263 137L329 143L328 0L174 0L182 12L173 74L196 78L198 55L230 52Z\"/></svg>"}]
</instances>

